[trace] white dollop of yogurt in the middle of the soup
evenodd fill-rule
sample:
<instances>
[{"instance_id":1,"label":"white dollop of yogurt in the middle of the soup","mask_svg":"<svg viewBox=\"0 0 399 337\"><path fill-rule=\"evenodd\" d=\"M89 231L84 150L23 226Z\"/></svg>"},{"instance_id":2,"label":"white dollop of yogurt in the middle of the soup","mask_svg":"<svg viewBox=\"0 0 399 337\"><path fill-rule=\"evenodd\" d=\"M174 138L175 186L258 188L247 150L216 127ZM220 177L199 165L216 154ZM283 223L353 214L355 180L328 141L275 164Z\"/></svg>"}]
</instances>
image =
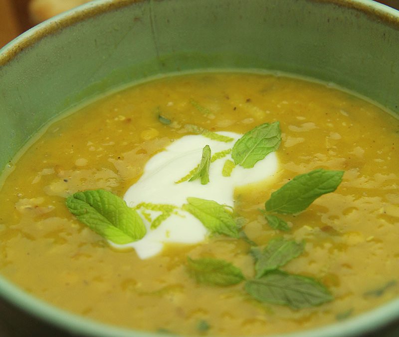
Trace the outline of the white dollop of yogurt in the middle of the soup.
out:
<instances>
[{"instance_id":1,"label":"white dollop of yogurt in the middle of the soup","mask_svg":"<svg viewBox=\"0 0 399 337\"><path fill-rule=\"evenodd\" d=\"M157 228L152 229L149 216L154 219L160 212L146 210L147 216L141 214L147 228L144 238L117 247L133 247L141 259L146 259L160 253L167 243L200 243L206 239L208 231L200 220L180 209L187 203L188 197L213 200L233 207L236 187L260 182L275 174L278 161L275 152L272 152L258 161L253 168L246 169L237 165L229 177L224 177L223 165L227 159L231 160L231 155L227 154L210 163L209 183L206 185L202 185L200 179L177 183L200 163L202 148L205 145L209 145L214 155L231 149L242 136L233 132L217 133L233 140L222 142L202 135L183 136L146 163L143 175L124 196L127 205L135 208L141 203L168 204L177 206L177 211L162 221Z\"/></svg>"}]
</instances>

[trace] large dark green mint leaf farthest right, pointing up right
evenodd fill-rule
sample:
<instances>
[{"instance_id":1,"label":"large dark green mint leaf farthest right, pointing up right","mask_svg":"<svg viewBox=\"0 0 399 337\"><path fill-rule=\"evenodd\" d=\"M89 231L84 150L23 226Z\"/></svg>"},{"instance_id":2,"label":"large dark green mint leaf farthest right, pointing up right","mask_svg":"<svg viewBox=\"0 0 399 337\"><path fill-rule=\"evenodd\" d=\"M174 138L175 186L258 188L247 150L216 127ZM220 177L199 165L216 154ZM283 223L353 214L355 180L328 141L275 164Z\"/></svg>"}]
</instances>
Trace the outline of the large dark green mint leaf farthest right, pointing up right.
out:
<instances>
[{"instance_id":1,"label":"large dark green mint leaf farthest right, pointing up right","mask_svg":"<svg viewBox=\"0 0 399 337\"><path fill-rule=\"evenodd\" d=\"M344 171L317 169L296 176L266 201L268 212L298 213L305 210L323 194L334 192L342 181Z\"/></svg>"}]
</instances>

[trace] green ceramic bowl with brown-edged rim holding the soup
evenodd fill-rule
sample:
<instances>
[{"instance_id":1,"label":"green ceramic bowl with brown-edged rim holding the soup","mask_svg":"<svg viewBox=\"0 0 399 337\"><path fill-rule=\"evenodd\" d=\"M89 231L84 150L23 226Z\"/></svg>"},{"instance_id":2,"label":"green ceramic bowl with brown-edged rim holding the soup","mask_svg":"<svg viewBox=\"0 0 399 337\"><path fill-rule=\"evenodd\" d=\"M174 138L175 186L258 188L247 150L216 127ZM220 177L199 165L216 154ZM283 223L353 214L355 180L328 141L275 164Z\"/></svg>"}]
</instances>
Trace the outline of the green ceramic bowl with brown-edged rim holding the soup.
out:
<instances>
[{"instance_id":1,"label":"green ceramic bowl with brown-edged rim holding the soup","mask_svg":"<svg viewBox=\"0 0 399 337\"><path fill-rule=\"evenodd\" d=\"M132 81L269 69L333 82L399 113L399 12L370 0L97 0L0 50L0 169L50 118ZM0 278L1 336L154 336L83 319ZM7 331L5 331L5 330ZM399 336L399 300L291 337Z\"/></svg>"}]
</instances>

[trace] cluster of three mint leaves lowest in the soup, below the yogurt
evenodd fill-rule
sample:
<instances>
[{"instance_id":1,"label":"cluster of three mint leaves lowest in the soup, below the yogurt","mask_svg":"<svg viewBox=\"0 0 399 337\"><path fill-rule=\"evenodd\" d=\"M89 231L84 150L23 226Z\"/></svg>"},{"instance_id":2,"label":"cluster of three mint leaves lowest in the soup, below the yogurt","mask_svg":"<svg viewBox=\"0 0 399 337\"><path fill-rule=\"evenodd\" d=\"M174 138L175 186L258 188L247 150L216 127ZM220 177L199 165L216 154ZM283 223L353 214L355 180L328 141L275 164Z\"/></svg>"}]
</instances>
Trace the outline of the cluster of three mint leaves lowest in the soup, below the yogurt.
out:
<instances>
[{"instance_id":1,"label":"cluster of three mint leaves lowest in the soup, below the yogurt","mask_svg":"<svg viewBox=\"0 0 399 337\"><path fill-rule=\"evenodd\" d=\"M278 268L303 252L303 243L275 239L263 250L253 249L257 260L254 279L246 280L244 290L259 302L302 309L333 300L333 296L313 278L289 274ZM217 259L188 259L188 270L197 282L212 286L230 286L245 280L232 264Z\"/></svg>"}]
</instances>

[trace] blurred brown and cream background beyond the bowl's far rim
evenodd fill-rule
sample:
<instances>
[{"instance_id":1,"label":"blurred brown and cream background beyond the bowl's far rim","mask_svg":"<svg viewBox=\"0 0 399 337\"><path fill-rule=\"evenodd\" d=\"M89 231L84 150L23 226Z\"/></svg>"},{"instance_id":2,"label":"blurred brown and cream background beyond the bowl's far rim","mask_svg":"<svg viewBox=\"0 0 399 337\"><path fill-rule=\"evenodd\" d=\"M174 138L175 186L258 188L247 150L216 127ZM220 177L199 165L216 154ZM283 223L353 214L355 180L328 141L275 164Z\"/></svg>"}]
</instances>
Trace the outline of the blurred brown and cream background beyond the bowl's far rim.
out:
<instances>
[{"instance_id":1,"label":"blurred brown and cream background beyond the bowl's far rim","mask_svg":"<svg viewBox=\"0 0 399 337\"><path fill-rule=\"evenodd\" d=\"M33 25L89 0L0 0L0 47ZM379 0L399 9L399 0Z\"/></svg>"}]
</instances>

